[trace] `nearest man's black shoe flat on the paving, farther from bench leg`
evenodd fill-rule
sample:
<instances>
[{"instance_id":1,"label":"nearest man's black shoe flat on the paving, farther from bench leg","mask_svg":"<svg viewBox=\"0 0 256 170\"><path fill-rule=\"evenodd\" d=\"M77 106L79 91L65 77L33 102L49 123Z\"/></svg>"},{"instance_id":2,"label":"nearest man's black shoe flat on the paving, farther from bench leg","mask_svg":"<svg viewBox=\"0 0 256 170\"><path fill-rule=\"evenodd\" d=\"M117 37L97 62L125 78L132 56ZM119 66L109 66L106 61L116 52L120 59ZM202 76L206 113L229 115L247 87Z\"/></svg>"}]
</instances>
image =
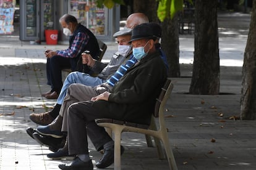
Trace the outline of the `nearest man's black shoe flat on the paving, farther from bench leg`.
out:
<instances>
[{"instance_id":1,"label":"nearest man's black shoe flat on the paving, farther from bench leg","mask_svg":"<svg viewBox=\"0 0 256 170\"><path fill-rule=\"evenodd\" d=\"M59 164L59 169L64 170L93 170L92 160L83 162L76 157L75 160L70 164Z\"/></svg>"}]
</instances>

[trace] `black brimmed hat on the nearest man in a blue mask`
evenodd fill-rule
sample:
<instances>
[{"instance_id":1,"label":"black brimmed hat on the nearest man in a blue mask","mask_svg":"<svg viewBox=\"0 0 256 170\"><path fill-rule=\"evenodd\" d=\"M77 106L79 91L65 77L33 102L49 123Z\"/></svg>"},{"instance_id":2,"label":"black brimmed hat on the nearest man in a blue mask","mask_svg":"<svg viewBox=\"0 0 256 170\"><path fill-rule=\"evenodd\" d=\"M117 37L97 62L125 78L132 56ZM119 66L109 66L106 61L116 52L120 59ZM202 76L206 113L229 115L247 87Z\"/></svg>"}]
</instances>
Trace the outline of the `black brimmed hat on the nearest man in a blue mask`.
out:
<instances>
[{"instance_id":1,"label":"black brimmed hat on the nearest man in a blue mask","mask_svg":"<svg viewBox=\"0 0 256 170\"><path fill-rule=\"evenodd\" d=\"M155 41L156 37L153 34L152 28L148 24L140 24L134 27L132 30L132 39L129 42L138 39L153 39Z\"/></svg>"}]
</instances>

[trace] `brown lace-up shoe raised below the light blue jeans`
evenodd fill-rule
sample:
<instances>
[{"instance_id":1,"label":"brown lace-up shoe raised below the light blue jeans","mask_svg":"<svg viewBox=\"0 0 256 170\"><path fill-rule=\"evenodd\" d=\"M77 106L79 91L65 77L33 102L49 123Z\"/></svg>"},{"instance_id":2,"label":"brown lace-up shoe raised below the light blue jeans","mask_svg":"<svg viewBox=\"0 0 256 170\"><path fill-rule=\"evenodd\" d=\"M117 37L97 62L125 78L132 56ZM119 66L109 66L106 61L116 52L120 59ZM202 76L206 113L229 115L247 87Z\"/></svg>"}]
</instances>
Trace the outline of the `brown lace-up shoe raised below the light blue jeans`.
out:
<instances>
[{"instance_id":1,"label":"brown lace-up shoe raised below the light blue jeans","mask_svg":"<svg viewBox=\"0 0 256 170\"><path fill-rule=\"evenodd\" d=\"M48 125L50 124L54 118L48 112L45 113L31 113L29 118L36 124L40 125Z\"/></svg>"}]
</instances>

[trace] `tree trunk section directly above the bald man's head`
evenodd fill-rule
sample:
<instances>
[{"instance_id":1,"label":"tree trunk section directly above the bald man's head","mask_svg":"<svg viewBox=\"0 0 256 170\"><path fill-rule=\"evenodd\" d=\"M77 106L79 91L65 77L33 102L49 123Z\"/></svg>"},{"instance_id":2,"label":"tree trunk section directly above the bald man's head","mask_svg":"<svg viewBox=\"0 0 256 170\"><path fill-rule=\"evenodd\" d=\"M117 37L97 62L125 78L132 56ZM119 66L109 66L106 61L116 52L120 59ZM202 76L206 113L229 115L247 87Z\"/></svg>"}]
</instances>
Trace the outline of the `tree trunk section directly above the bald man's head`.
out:
<instances>
[{"instance_id":1,"label":"tree trunk section directly above the bald man's head","mask_svg":"<svg viewBox=\"0 0 256 170\"><path fill-rule=\"evenodd\" d=\"M147 15L150 22L158 23L156 14L157 2L156 0L140 0L134 1L134 12L142 12Z\"/></svg>"}]
</instances>

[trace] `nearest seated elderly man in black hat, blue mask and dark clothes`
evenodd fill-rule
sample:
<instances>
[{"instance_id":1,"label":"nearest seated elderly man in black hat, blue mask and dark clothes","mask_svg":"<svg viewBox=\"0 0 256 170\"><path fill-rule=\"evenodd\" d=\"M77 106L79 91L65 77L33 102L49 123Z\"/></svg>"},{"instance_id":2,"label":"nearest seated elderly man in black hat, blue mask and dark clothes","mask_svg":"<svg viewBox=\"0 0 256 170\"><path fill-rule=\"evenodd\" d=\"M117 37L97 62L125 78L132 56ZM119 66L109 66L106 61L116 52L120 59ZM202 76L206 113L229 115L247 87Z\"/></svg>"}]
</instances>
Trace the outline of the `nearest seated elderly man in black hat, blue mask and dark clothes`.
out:
<instances>
[{"instance_id":1,"label":"nearest seated elderly man in black hat, blue mask and dark clothes","mask_svg":"<svg viewBox=\"0 0 256 170\"><path fill-rule=\"evenodd\" d=\"M93 164L88 155L87 124L96 118L113 118L140 124L150 124L155 99L167 77L166 68L159 51L154 46L155 36L147 25L135 26L132 30L132 54L139 60L129 68L115 84L111 92L104 92L91 100L70 105L67 121L69 155L75 155L70 164L60 164L60 169L92 170ZM94 122L95 123L95 122ZM103 127L90 128L102 140L104 164L106 168L114 161L114 141Z\"/></svg>"}]
</instances>

